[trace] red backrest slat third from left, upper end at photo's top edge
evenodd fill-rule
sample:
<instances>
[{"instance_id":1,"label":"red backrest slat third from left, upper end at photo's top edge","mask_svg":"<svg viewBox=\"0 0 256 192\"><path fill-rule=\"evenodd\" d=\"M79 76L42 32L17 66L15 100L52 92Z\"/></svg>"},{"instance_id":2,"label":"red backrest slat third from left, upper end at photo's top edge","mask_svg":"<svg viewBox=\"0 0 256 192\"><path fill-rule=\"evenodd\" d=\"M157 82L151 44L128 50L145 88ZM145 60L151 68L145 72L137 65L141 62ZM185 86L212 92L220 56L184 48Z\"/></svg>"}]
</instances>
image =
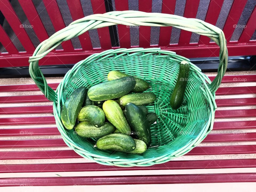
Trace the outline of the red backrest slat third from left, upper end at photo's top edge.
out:
<instances>
[{"instance_id":1,"label":"red backrest slat third from left, upper end at photo's top edge","mask_svg":"<svg viewBox=\"0 0 256 192\"><path fill-rule=\"evenodd\" d=\"M24 13L26 14L29 23L33 25L33 30L35 31L35 34L38 37L39 41L42 42L45 39L48 39L49 36L32 0L19 0L19 4L21 5Z\"/></svg>"}]
</instances>

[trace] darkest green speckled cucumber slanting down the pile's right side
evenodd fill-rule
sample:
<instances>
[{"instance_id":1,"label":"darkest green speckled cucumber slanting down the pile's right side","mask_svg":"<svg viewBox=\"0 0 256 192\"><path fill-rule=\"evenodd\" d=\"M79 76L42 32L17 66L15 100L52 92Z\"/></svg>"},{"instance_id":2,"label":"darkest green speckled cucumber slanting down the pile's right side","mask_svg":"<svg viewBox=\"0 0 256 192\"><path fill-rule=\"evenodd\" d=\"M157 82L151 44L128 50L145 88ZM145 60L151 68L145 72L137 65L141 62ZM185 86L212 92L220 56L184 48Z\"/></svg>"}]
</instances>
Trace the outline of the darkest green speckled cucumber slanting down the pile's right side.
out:
<instances>
[{"instance_id":1,"label":"darkest green speckled cucumber slanting down the pile's right side","mask_svg":"<svg viewBox=\"0 0 256 192\"><path fill-rule=\"evenodd\" d=\"M125 116L132 131L137 133L135 135L136 138L144 141L147 147L149 147L151 142L150 126L141 108L134 103L127 103L125 106Z\"/></svg>"}]
</instances>

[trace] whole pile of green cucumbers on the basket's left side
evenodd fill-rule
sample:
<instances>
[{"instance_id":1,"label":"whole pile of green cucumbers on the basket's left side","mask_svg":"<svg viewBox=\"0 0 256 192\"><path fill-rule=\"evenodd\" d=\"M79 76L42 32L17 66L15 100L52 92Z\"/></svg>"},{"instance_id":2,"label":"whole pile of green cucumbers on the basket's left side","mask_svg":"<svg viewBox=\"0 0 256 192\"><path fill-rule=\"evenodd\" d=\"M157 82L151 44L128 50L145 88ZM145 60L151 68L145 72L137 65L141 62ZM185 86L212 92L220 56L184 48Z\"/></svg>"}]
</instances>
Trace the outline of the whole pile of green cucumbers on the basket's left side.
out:
<instances>
[{"instance_id":1,"label":"whole pile of green cucumbers on the basket's left side","mask_svg":"<svg viewBox=\"0 0 256 192\"><path fill-rule=\"evenodd\" d=\"M143 92L149 88L146 81L120 71L110 71L107 79L70 95L61 110L63 125L75 127L81 137L97 138L98 149L145 152L151 142L150 125L158 117L144 105L153 103L156 95Z\"/></svg>"}]
</instances>

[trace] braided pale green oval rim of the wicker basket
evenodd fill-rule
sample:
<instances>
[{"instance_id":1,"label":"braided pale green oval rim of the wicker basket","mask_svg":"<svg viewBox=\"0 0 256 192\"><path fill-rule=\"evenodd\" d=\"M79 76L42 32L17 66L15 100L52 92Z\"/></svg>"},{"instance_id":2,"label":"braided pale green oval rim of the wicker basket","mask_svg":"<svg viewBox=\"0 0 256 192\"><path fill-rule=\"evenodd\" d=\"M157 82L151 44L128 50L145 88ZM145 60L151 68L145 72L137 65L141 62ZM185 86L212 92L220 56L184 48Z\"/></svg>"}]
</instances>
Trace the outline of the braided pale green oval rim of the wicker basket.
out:
<instances>
[{"instance_id":1,"label":"braided pale green oval rim of the wicker basket","mask_svg":"<svg viewBox=\"0 0 256 192\"><path fill-rule=\"evenodd\" d=\"M134 52L135 51L135 52ZM136 52L138 51L138 52ZM108 53L106 56L102 57L103 54L101 53L95 53L93 54L90 58L86 58L78 63L76 63L74 65L74 67L68 71L68 73L66 73L66 75L64 76L63 80L61 81L61 83L59 84L59 86L57 87L56 93L58 96L58 102L54 102L53 103L53 112L54 112L54 117L55 117L55 121L57 124L57 128L59 130L59 132L61 133L62 139L63 141L67 144L67 146L69 146L71 149L73 149L77 154L81 155L82 157L100 163L102 165L115 165L115 166L121 166L121 167L132 167L132 166L151 166L154 164L159 164L159 163L163 163L163 162L167 162L170 161L173 158L176 157L180 157L186 153L188 153L189 151L191 151L195 146L197 146L206 136L207 134L213 129L213 119L214 119L214 114L215 114L215 109L217 108L216 103L215 103L215 94L212 95L210 92L209 87L207 86L206 82L210 82L210 79L202 73L202 71L195 66L193 63L190 62L189 59L184 58L180 55L175 54L172 51L166 51L166 50L161 50L160 48L149 48L149 49L143 49L143 48L136 48L134 50L134 48L131 49L111 49L111 50L106 50L103 51ZM66 82L69 81L69 78L74 75L77 71L79 71L79 67L81 65L82 62L94 62L96 60L100 60L102 58L106 58L106 57L118 57L118 54L122 54L122 53L126 53L127 55L129 55L130 53L140 53L140 54L165 54L165 57L174 57L174 58L180 58L181 60L186 59L190 66L193 66L194 69L197 71L198 76L200 76L202 82L205 84L205 89L206 89L206 94L208 95L209 98L209 102L210 103L210 114L209 114L209 118L207 123L205 123L205 126L203 127L203 129L201 130L201 133L198 134L198 136L193 139L192 141L190 141L189 143L187 143L187 145L185 145L184 147L182 147L180 150L177 150L171 154L165 154L165 155L161 155L159 157L152 157L152 158L147 158L147 159L137 159L137 160L130 160L130 159L113 159L113 161L110 161L110 158L106 158L104 159L103 155L97 155L97 154L92 154L89 151L86 151L85 149L82 149L81 147L79 147L78 145L75 144L74 141L71 140L71 138L69 138L68 134L66 133L66 129L65 127L62 125L62 121L61 121L61 110L60 110L60 104L62 102L62 104L64 103L61 94L62 94L62 90L65 87ZM131 54L130 54L131 55ZM163 55L161 55L163 56ZM176 56L176 57L175 57ZM107 161L108 159L108 161Z\"/></svg>"}]
</instances>

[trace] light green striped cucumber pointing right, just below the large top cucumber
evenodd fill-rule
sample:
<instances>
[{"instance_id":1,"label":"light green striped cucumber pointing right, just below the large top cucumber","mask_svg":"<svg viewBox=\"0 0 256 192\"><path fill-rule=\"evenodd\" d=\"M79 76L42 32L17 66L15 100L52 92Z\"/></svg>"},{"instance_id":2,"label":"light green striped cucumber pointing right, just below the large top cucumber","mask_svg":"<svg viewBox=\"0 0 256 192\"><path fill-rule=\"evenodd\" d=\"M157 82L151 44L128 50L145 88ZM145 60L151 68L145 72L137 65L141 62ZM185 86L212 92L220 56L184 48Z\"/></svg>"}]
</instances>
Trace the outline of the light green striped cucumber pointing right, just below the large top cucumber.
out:
<instances>
[{"instance_id":1,"label":"light green striped cucumber pointing right, just below the large top cucumber","mask_svg":"<svg viewBox=\"0 0 256 192\"><path fill-rule=\"evenodd\" d=\"M134 93L129 95L124 95L120 98L120 105L126 106L127 103L134 103L135 105L146 105L153 103L156 100L154 93Z\"/></svg>"}]
</instances>

